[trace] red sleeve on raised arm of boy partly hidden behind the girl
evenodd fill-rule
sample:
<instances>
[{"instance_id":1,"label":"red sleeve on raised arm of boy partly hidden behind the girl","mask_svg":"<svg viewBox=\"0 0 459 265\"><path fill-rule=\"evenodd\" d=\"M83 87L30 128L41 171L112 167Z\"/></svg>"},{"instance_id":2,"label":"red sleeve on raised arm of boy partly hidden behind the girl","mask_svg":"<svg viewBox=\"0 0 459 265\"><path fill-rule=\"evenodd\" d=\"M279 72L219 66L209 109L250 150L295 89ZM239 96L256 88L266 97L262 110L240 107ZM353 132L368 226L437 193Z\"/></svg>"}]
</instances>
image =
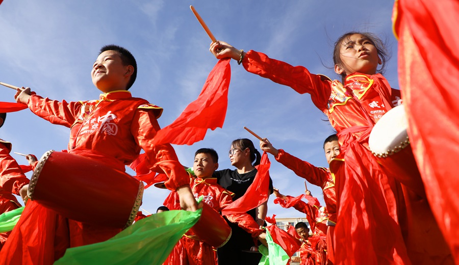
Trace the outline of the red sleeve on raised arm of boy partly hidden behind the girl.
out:
<instances>
[{"instance_id":1,"label":"red sleeve on raised arm of boy partly hidden behind the girl","mask_svg":"<svg viewBox=\"0 0 459 265\"><path fill-rule=\"evenodd\" d=\"M279 153L275 156L275 159L311 184L323 188L327 181L328 173L324 168L318 168L308 162L302 161L283 149L279 149Z\"/></svg>"}]
</instances>

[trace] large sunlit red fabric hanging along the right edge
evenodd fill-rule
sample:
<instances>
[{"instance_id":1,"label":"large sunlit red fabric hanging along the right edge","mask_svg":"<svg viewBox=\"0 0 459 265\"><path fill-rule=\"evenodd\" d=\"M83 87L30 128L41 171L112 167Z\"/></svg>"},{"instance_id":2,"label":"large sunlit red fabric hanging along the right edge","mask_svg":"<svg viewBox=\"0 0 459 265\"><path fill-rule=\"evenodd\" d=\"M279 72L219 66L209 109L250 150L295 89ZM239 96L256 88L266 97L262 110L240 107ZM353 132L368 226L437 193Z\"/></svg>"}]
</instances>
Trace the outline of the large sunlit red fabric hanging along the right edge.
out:
<instances>
[{"instance_id":1,"label":"large sunlit red fabric hanging along the right edge","mask_svg":"<svg viewBox=\"0 0 459 265\"><path fill-rule=\"evenodd\" d=\"M394 8L398 76L411 147L427 199L459 264L459 2L404 0Z\"/></svg>"}]
</instances>

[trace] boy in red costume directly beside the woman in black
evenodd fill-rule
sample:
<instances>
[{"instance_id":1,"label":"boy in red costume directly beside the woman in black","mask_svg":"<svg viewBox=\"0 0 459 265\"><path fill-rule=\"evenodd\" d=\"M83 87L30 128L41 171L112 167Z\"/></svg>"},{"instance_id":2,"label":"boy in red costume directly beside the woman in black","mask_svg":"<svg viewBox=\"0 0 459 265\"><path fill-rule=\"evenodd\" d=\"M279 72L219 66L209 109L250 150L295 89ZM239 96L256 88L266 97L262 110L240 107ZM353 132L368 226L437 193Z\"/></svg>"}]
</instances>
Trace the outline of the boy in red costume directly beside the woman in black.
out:
<instances>
[{"instance_id":1,"label":"boy in red costume directly beside the woman in black","mask_svg":"<svg viewBox=\"0 0 459 265\"><path fill-rule=\"evenodd\" d=\"M201 148L196 151L194 156L193 171L195 177L191 178L190 186L197 199L204 196L203 202L209 204L216 211L220 212L224 207L233 202L232 192L223 189L217 184L217 179L212 174L218 168L218 154L214 149ZM173 193L166 199L165 205L170 205L173 200ZM171 207L171 206L169 206ZM173 207L173 206L172 206ZM250 233L254 239L264 241L265 233L259 225L246 213L227 215L226 218L233 223L237 223L241 228ZM200 264L214 265L215 256L212 246L199 241L192 232L188 231L182 237L184 251L179 260L170 260L169 264Z\"/></svg>"}]
</instances>

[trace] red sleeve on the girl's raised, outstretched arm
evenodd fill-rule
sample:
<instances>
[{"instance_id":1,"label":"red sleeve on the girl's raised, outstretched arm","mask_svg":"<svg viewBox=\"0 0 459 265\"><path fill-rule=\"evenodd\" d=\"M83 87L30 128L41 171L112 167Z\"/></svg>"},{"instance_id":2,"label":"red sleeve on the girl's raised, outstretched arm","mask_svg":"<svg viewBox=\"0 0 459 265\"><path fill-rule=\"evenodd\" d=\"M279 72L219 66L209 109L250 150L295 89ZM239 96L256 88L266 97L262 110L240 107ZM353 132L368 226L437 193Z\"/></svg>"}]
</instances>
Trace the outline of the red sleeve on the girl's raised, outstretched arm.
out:
<instances>
[{"instance_id":1,"label":"red sleeve on the girl's raised, outstretched arm","mask_svg":"<svg viewBox=\"0 0 459 265\"><path fill-rule=\"evenodd\" d=\"M254 50L247 52L242 65L248 72L289 86L300 94L311 94L311 99L319 110L327 109L331 94L330 81L322 81L323 77L310 73L305 67L292 66Z\"/></svg>"}]
</instances>

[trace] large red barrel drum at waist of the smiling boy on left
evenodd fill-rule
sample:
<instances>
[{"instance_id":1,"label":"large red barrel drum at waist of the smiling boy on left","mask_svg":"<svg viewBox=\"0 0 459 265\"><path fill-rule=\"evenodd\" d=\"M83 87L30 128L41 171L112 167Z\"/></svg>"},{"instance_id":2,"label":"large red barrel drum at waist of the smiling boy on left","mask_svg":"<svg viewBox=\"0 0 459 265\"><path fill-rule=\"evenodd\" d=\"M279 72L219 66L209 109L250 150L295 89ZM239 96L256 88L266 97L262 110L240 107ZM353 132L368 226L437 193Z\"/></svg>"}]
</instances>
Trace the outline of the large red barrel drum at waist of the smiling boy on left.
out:
<instances>
[{"instance_id":1,"label":"large red barrel drum at waist of the smiling boy on left","mask_svg":"<svg viewBox=\"0 0 459 265\"><path fill-rule=\"evenodd\" d=\"M28 196L69 219L114 228L134 221L143 183L91 158L54 150L38 162Z\"/></svg>"}]
</instances>

